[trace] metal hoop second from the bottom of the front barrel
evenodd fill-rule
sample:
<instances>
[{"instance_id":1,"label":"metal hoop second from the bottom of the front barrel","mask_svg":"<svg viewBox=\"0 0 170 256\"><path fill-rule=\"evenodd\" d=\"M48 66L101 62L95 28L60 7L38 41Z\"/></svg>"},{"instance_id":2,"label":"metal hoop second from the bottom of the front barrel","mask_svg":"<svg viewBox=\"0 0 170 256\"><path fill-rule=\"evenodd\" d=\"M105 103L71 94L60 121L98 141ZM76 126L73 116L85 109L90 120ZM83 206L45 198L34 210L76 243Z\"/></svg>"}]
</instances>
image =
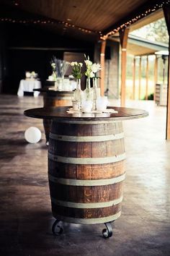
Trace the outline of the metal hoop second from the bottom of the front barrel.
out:
<instances>
[{"instance_id":1,"label":"metal hoop second from the bottom of the front barrel","mask_svg":"<svg viewBox=\"0 0 170 256\"><path fill-rule=\"evenodd\" d=\"M51 202L55 205L61 205L68 208L81 208L81 209L87 209L87 208L105 208L110 207L113 205L118 205L118 203L122 202L122 197L117 198L115 200L109 201L109 202L66 202L61 200L56 200L55 198L51 197Z\"/></svg>"}]
</instances>

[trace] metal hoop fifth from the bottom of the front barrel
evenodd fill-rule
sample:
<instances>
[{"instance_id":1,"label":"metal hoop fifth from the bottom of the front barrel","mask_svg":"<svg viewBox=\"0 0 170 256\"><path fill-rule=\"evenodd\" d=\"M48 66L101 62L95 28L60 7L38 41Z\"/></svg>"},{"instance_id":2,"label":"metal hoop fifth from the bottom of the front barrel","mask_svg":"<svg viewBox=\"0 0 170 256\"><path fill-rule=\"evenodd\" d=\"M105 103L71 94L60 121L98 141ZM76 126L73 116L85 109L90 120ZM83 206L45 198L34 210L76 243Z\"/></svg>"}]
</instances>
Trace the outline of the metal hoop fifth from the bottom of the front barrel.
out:
<instances>
[{"instance_id":1,"label":"metal hoop fifth from the bottom of the front barrel","mask_svg":"<svg viewBox=\"0 0 170 256\"><path fill-rule=\"evenodd\" d=\"M66 136L66 135L55 135L50 132L50 139L70 141L70 142L101 142L108 140L118 140L124 137L124 132L114 135L102 135L102 136Z\"/></svg>"}]
</instances>

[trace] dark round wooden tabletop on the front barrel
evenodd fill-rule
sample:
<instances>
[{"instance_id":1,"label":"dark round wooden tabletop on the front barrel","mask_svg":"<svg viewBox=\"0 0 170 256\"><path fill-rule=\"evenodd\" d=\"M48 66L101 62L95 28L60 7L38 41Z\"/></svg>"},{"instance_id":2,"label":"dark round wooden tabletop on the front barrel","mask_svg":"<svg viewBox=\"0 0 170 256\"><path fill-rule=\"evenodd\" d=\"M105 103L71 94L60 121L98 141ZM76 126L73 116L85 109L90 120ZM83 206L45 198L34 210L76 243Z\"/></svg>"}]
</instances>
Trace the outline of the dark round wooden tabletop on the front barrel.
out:
<instances>
[{"instance_id":1,"label":"dark round wooden tabletop on the front barrel","mask_svg":"<svg viewBox=\"0 0 170 256\"><path fill-rule=\"evenodd\" d=\"M58 121L120 121L148 116L148 112L137 108L109 107L117 113L73 113L68 114L68 106L32 108L24 111L25 116L38 119L57 119Z\"/></svg>"}]
</instances>

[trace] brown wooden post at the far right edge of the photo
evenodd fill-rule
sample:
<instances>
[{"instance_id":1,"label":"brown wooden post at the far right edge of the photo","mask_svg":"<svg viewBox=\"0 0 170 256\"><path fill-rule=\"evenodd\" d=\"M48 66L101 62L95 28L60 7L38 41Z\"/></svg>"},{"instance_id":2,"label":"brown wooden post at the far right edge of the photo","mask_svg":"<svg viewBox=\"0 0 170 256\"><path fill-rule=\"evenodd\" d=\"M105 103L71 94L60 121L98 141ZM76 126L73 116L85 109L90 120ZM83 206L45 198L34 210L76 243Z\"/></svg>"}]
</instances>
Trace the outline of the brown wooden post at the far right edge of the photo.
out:
<instances>
[{"instance_id":1,"label":"brown wooden post at the far right edge of the photo","mask_svg":"<svg viewBox=\"0 0 170 256\"><path fill-rule=\"evenodd\" d=\"M163 7L166 26L169 32L169 54L170 54L170 5ZM166 140L170 140L170 57L168 64L168 85L167 85L167 110L166 110Z\"/></svg>"}]
</instances>

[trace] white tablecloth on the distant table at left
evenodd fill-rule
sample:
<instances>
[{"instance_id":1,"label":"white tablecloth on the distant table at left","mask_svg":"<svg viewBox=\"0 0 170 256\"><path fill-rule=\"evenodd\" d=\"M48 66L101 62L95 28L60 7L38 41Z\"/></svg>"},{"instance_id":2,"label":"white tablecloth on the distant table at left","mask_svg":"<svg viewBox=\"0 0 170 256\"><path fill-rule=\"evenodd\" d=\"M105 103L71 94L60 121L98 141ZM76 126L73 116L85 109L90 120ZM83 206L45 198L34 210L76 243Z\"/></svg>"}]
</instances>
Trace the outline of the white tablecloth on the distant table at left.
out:
<instances>
[{"instance_id":1,"label":"white tablecloth on the distant table at left","mask_svg":"<svg viewBox=\"0 0 170 256\"><path fill-rule=\"evenodd\" d=\"M33 89L41 88L41 82L39 80L21 80L19 82L19 88L17 95L22 97L24 92L34 93L34 96L37 97L40 92L34 92Z\"/></svg>"}]
</instances>

